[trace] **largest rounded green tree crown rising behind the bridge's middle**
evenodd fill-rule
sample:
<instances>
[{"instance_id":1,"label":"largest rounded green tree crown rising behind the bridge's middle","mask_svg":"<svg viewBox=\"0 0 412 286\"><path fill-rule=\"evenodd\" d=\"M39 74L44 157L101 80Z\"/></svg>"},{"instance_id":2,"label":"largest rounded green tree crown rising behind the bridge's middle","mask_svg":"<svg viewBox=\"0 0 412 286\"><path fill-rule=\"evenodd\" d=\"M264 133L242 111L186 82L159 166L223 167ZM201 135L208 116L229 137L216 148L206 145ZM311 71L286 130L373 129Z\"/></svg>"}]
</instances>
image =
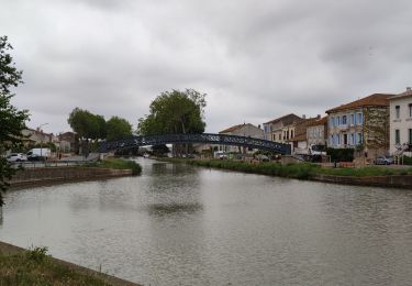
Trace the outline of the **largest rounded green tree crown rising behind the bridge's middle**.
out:
<instances>
[{"instance_id":1,"label":"largest rounded green tree crown rising behind the bridge's middle","mask_svg":"<svg viewBox=\"0 0 412 286\"><path fill-rule=\"evenodd\" d=\"M151 103L151 113L138 120L137 133L179 134L202 133L205 95L193 89L162 92Z\"/></svg>"}]
</instances>

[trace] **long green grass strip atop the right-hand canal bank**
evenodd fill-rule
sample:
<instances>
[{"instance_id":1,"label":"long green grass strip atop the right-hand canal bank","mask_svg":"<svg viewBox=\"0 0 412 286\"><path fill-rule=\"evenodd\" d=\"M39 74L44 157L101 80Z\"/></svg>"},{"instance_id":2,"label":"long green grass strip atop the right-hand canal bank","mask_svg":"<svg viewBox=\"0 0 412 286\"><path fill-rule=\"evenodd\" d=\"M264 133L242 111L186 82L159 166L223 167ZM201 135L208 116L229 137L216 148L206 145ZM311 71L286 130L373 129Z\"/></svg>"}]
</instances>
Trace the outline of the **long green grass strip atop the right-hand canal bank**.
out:
<instances>
[{"instance_id":1,"label":"long green grass strip atop the right-hand canal bank","mask_svg":"<svg viewBox=\"0 0 412 286\"><path fill-rule=\"evenodd\" d=\"M280 176L287 178L310 179L315 175L333 176L389 176L389 175L412 175L412 167L404 169L392 169L387 167L363 167L363 168L325 168L311 163L281 165L274 162L250 163L229 160L179 160L164 158L174 163L186 163L194 166L211 168L232 169L244 173Z\"/></svg>"}]
</instances>

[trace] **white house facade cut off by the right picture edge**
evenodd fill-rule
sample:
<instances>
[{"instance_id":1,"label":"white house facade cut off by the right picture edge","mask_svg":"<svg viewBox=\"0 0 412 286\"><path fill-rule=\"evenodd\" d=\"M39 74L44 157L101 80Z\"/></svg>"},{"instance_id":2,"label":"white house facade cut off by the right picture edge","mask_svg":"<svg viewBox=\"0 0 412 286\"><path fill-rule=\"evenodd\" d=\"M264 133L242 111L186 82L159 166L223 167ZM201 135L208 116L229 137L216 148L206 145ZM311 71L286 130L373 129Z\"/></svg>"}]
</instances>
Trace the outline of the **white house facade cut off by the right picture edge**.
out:
<instances>
[{"instance_id":1,"label":"white house facade cut off by the right picture edge","mask_svg":"<svg viewBox=\"0 0 412 286\"><path fill-rule=\"evenodd\" d=\"M412 145L412 89L390 98L390 143L391 154L411 153ZM411 155L411 154L408 154Z\"/></svg>"}]
</instances>

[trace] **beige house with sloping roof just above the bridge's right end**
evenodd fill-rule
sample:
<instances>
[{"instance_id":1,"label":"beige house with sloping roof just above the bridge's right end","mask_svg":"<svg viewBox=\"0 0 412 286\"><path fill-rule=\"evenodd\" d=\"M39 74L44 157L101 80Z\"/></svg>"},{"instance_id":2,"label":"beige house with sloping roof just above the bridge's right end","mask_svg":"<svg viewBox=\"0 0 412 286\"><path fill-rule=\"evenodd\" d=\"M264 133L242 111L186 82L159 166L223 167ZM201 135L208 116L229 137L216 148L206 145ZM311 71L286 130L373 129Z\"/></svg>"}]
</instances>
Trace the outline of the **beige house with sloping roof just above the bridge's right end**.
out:
<instances>
[{"instance_id":1,"label":"beige house with sloping roof just above the bridge's right end","mask_svg":"<svg viewBox=\"0 0 412 286\"><path fill-rule=\"evenodd\" d=\"M275 142L283 142L283 138L290 138L290 134L283 134L282 128L290 125L297 121L301 120L300 117L290 113L281 118L274 119L264 123L264 139ZM293 131L290 131L293 132Z\"/></svg>"}]
</instances>

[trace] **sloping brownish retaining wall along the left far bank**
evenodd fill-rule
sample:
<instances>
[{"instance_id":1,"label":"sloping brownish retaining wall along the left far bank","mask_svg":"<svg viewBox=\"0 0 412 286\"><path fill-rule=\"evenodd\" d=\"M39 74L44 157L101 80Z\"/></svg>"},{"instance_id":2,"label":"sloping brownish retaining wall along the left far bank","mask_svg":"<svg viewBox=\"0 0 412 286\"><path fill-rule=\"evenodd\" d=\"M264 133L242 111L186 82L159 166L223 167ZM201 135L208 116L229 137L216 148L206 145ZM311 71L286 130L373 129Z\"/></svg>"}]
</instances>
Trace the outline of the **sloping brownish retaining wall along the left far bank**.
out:
<instances>
[{"instance_id":1,"label":"sloping brownish retaining wall along the left far bank","mask_svg":"<svg viewBox=\"0 0 412 286\"><path fill-rule=\"evenodd\" d=\"M94 180L131 176L131 169L112 169L96 167L42 167L18 170L9 182L11 187L48 185L66 182Z\"/></svg>"}]
</instances>

